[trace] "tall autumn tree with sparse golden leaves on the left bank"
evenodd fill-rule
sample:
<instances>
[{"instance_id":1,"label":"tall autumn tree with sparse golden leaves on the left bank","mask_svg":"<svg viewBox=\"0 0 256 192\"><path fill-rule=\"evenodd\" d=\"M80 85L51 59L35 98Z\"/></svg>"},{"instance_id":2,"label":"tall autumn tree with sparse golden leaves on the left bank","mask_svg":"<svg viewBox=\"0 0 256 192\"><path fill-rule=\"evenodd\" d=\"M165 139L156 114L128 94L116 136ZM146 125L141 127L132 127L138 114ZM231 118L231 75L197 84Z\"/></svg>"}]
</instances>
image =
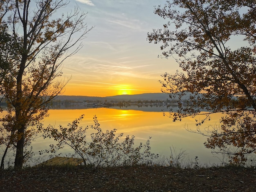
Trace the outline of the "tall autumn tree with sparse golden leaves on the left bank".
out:
<instances>
[{"instance_id":1,"label":"tall autumn tree with sparse golden leaves on the left bank","mask_svg":"<svg viewBox=\"0 0 256 192\"><path fill-rule=\"evenodd\" d=\"M22 168L29 155L24 147L38 132L36 125L47 115L47 104L61 93L68 81L58 80L62 63L81 49L79 42L92 28L84 24L87 13L81 12L78 6L67 16L58 17L57 13L68 4L65 0L2 3L12 5L5 4L9 10L4 13L1 25L7 25L16 46L6 51L9 71L2 87L7 115L1 121L9 133L9 143L16 150L14 167ZM16 50L14 58L13 49Z\"/></svg>"}]
</instances>

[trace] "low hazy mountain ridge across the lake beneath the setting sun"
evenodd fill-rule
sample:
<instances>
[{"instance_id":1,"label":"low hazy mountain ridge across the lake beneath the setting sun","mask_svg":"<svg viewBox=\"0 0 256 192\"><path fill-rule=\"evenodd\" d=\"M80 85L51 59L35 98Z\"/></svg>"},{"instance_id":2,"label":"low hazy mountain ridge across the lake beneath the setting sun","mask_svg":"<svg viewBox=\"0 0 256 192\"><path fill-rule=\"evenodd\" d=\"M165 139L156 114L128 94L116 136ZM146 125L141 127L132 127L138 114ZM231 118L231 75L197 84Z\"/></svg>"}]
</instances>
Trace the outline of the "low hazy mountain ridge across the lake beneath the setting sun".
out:
<instances>
[{"instance_id":1,"label":"low hazy mountain ridge across the lake beneath the setting sun","mask_svg":"<svg viewBox=\"0 0 256 192\"><path fill-rule=\"evenodd\" d=\"M169 99L169 95L166 93L144 93L144 94L135 94L135 95L116 95L116 96L107 96L107 97L95 97L95 96L66 96L60 95L56 97L55 100L63 102L65 100L73 101L86 101L86 100L99 100L99 101L138 101L138 100L166 100Z\"/></svg>"}]
</instances>

